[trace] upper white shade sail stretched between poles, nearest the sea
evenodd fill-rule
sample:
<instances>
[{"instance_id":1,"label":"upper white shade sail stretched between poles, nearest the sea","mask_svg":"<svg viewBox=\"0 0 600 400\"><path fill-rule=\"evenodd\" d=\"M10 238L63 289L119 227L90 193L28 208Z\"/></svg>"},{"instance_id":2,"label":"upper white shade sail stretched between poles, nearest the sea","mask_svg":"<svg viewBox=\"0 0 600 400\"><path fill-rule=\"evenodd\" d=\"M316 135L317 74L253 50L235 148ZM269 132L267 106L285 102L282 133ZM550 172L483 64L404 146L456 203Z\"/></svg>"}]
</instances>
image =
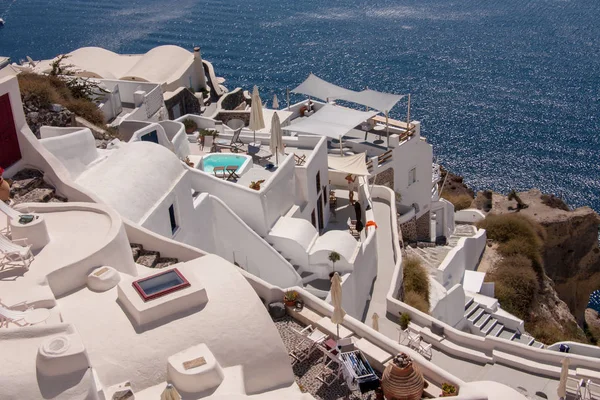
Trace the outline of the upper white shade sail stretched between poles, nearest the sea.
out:
<instances>
[{"instance_id":1,"label":"upper white shade sail stretched between poles, nearest the sea","mask_svg":"<svg viewBox=\"0 0 600 400\"><path fill-rule=\"evenodd\" d=\"M356 92L329 83L314 74L310 74L292 92L316 97L321 100L337 99L350 101L381 112L389 112L404 97L399 94L383 93L370 89Z\"/></svg>"}]
</instances>

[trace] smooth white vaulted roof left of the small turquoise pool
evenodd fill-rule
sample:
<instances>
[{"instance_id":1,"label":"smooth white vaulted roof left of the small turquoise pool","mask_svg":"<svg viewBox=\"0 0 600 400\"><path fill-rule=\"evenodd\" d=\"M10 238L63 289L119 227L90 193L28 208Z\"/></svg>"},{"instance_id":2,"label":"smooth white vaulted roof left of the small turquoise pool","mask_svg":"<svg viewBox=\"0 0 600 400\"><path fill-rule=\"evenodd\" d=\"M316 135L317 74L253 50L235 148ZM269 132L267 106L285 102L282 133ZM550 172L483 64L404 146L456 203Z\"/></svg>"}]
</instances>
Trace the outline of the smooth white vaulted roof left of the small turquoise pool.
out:
<instances>
[{"instance_id":1,"label":"smooth white vaulted roof left of the small turquoise pool","mask_svg":"<svg viewBox=\"0 0 600 400\"><path fill-rule=\"evenodd\" d=\"M179 158L167 148L132 142L111 151L76 182L122 216L141 223L185 172Z\"/></svg>"}]
</instances>

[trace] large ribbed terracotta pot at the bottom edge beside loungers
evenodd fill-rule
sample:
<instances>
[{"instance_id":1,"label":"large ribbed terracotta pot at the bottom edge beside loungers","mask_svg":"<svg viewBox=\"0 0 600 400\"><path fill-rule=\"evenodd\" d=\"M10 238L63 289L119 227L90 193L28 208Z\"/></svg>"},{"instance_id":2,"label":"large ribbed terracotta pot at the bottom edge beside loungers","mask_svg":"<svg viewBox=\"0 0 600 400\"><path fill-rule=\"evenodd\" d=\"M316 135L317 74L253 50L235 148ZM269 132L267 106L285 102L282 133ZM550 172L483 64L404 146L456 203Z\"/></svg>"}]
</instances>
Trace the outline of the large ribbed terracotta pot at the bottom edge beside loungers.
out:
<instances>
[{"instance_id":1,"label":"large ribbed terracotta pot at the bottom edge beside loungers","mask_svg":"<svg viewBox=\"0 0 600 400\"><path fill-rule=\"evenodd\" d=\"M383 371L381 388L388 400L420 400L425 379L419 366L409 358L409 364L398 367L393 361Z\"/></svg>"}]
</instances>

